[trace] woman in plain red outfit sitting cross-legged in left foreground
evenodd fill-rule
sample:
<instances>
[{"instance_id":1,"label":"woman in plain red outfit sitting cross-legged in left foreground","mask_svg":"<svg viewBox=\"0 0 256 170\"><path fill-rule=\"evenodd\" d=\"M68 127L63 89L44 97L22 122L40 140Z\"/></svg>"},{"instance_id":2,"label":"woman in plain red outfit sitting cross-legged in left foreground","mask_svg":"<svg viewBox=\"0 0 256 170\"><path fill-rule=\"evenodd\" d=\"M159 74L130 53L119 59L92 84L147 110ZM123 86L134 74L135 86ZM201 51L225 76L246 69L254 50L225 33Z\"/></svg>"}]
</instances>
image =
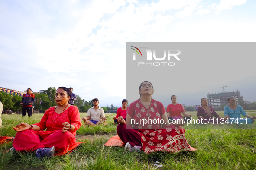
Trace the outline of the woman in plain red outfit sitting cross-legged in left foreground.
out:
<instances>
[{"instance_id":1,"label":"woman in plain red outfit sitting cross-legged in left foreground","mask_svg":"<svg viewBox=\"0 0 256 170\"><path fill-rule=\"evenodd\" d=\"M17 131L13 140L14 150L35 151L36 157L41 158L53 157L54 151L67 151L69 146L73 146L81 121L78 108L68 104L71 94L70 89L59 87L55 94L58 105L46 110L39 123L29 125L22 122L13 127Z\"/></svg>"}]
</instances>

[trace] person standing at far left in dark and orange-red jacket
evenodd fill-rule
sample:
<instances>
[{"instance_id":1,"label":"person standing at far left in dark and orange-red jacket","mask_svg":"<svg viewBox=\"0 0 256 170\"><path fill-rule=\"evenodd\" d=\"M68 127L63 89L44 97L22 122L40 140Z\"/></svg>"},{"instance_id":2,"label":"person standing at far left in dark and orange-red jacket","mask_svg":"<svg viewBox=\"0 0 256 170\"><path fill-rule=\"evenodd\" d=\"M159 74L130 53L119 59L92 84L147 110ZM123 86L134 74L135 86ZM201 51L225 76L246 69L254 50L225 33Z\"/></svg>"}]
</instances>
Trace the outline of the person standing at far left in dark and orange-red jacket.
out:
<instances>
[{"instance_id":1,"label":"person standing at far left in dark and orange-red jacket","mask_svg":"<svg viewBox=\"0 0 256 170\"><path fill-rule=\"evenodd\" d=\"M23 95L20 103L22 105L22 117L26 116L26 112L28 112L29 117L32 116L32 104L34 104L35 102L35 95L32 94L31 88L28 88L27 93Z\"/></svg>"}]
</instances>

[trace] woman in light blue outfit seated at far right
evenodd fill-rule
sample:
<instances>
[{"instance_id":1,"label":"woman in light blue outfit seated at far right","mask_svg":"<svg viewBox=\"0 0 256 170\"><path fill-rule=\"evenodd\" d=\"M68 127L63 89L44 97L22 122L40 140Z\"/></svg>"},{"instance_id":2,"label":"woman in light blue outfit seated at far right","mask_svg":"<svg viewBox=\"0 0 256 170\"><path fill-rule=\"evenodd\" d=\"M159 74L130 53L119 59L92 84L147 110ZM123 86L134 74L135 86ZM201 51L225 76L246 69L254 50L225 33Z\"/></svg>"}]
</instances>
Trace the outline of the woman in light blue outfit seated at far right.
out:
<instances>
[{"instance_id":1,"label":"woman in light blue outfit seated at far right","mask_svg":"<svg viewBox=\"0 0 256 170\"><path fill-rule=\"evenodd\" d=\"M252 124L254 122L254 119L256 119L255 116L249 116L243 108L240 105L236 104L236 98L230 97L227 98L227 101L229 105L224 107L224 116L229 119L229 122L231 123L237 123L237 124ZM243 119L241 117L241 114L247 118ZM230 119L234 118L234 119Z\"/></svg>"}]
</instances>

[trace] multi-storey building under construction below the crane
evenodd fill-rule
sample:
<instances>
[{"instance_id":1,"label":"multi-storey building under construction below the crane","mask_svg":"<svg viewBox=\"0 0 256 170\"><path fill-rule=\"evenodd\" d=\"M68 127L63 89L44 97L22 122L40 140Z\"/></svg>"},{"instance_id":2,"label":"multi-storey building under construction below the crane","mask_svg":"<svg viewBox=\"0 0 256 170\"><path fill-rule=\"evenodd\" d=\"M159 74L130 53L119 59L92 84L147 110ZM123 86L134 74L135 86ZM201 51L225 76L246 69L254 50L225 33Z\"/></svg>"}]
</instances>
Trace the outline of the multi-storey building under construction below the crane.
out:
<instances>
[{"instance_id":1,"label":"multi-storey building under construction below the crane","mask_svg":"<svg viewBox=\"0 0 256 170\"><path fill-rule=\"evenodd\" d=\"M233 91L233 92L222 92L222 93L215 93L215 94L207 94L208 105L217 108L220 107L222 104L228 104L227 98L234 97L237 100L243 100L243 96L240 95L240 91Z\"/></svg>"}]
</instances>

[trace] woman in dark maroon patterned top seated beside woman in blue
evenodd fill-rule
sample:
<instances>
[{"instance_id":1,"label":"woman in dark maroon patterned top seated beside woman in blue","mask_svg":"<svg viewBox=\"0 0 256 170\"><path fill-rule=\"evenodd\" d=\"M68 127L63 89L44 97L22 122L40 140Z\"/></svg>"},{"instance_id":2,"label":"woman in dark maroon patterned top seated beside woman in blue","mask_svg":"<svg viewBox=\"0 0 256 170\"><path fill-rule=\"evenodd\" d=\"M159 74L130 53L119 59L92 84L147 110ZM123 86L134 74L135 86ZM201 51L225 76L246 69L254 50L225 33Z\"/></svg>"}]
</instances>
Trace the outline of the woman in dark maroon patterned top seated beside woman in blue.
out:
<instances>
[{"instance_id":1,"label":"woman in dark maroon patterned top seated beside woman in blue","mask_svg":"<svg viewBox=\"0 0 256 170\"><path fill-rule=\"evenodd\" d=\"M202 98L201 99L201 106L198 107L198 119L202 119L201 123L204 123L204 120L210 121L211 123L220 123L221 121L224 121L224 117L221 117L220 115L218 115L215 110L211 107L208 106L208 100L206 98ZM213 116L216 117L217 119L213 119ZM221 118L223 118L221 120Z\"/></svg>"}]
</instances>

